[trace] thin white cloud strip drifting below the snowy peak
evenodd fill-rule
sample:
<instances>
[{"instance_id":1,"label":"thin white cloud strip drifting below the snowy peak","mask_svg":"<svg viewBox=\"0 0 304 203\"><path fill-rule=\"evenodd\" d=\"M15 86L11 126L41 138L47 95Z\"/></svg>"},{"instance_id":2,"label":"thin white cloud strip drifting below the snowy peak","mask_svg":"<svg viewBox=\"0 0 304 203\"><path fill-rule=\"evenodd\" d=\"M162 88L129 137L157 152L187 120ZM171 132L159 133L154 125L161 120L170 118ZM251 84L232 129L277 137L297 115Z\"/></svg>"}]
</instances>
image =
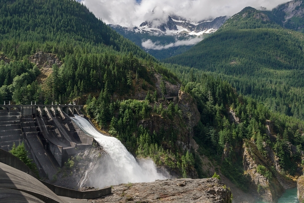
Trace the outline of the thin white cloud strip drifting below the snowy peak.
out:
<instances>
[{"instance_id":1,"label":"thin white cloud strip drifting below the snowy peak","mask_svg":"<svg viewBox=\"0 0 304 203\"><path fill-rule=\"evenodd\" d=\"M142 42L142 46L145 49L152 49L152 50L162 50L162 49L168 49L175 46L184 46L184 45L195 45L198 42L200 42L202 38L196 37L189 40L179 40L174 43L166 44L166 45L160 45L158 42L152 42L151 39L148 39L146 41Z\"/></svg>"}]
</instances>

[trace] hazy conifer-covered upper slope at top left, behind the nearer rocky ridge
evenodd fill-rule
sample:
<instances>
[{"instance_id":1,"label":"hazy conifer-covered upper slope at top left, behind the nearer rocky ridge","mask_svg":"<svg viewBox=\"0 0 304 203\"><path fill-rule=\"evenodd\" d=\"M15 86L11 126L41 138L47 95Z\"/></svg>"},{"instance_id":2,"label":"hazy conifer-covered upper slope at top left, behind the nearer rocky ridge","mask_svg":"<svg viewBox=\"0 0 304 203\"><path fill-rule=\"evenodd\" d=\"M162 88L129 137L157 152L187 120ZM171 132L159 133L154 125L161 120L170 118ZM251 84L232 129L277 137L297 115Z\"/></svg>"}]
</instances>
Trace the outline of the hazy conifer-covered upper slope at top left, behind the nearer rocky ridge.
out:
<instances>
[{"instance_id":1,"label":"hazy conifer-covered upper slope at top left, behind the nearer rocky ridge","mask_svg":"<svg viewBox=\"0 0 304 203\"><path fill-rule=\"evenodd\" d=\"M148 56L74 0L60 3L57 0L2 0L0 25L2 51L18 59L33 54L36 49L63 57L75 46L87 52L109 46L142 58Z\"/></svg>"}]
</instances>

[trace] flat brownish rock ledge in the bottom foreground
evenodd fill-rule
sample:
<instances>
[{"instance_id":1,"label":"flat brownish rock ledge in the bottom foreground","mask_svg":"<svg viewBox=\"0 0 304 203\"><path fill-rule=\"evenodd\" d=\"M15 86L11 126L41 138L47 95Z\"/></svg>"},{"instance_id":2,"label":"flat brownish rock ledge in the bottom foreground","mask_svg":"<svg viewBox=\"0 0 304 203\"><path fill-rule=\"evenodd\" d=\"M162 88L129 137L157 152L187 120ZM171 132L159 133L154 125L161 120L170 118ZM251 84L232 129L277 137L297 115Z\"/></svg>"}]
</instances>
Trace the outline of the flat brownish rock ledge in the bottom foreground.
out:
<instances>
[{"instance_id":1,"label":"flat brownish rock ledge in the bottom foreground","mask_svg":"<svg viewBox=\"0 0 304 203\"><path fill-rule=\"evenodd\" d=\"M114 186L94 203L230 203L231 191L218 179L168 179Z\"/></svg>"}]
</instances>

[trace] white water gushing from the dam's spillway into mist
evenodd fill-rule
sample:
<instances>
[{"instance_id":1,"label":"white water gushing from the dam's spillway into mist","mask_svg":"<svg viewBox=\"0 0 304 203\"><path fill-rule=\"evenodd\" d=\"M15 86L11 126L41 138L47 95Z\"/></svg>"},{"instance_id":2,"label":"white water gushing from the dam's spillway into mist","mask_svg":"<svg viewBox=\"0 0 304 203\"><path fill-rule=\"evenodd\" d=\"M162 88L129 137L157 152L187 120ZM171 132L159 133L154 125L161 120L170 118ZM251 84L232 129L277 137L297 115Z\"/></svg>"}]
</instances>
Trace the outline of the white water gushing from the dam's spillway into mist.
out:
<instances>
[{"instance_id":1,"label":"white water gushing from the dam's spillway into mist","mask_svg":"<svg viewBox=\"0 0 304 203\"><path fill-rule=\"evenodd\" d=\"M73 121L89 136L99 143L109 156L102 157L102 165L89 174L90 184L94 187L105 187L121 183L153 182L166 179L157 173L152 160L140 160L138 163L125 146L116 138L105 136L84 118L75 115Z\"/></svg>"}]
</instances>

